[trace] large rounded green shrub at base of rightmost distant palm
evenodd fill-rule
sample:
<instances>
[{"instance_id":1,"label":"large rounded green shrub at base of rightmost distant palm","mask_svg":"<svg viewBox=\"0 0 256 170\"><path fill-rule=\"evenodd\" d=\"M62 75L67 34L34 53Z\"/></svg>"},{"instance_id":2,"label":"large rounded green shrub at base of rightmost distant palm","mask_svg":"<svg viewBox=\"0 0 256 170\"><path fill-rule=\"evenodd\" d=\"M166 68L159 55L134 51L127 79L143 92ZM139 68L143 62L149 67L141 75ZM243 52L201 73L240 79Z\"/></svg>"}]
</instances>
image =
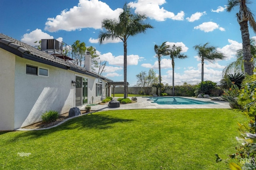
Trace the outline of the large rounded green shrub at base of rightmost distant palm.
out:
<instances>
[{"instance_id":1,"label":"large rounded green shrub at base of rightmost distant palm","mask_svg":"<svg viewBox=\"0 0 256 170\"><path fill-rule=\"evenodd\" d=\"M198 85L195 86L194 93L196 94L196 96L198 96L199 94L210 94L210 90L219 89L219 87L216 85L217 83L210 80L200 82Z\"/></svg>"}]
</instances>

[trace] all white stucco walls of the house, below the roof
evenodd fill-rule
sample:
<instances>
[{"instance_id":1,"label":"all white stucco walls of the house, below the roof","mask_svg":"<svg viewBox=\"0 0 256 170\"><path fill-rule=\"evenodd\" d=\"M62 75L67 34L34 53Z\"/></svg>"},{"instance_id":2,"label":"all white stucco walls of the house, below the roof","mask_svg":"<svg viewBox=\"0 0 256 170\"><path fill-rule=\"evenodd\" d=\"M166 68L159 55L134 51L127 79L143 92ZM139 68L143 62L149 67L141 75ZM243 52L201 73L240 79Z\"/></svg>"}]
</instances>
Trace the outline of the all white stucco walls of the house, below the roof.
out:
<instances>
[{"instance_id":1,"label":"all white stucco walls of the house, below the roof","mask_svg":"<svg viewBox=\"0 0 256 170\"><path fill-rule=\"evenodd\" d=\"M48 69L48 76L26 74L26 64ZM0 130L15 130L41 121L47 110L60 114L75 106L75 76L88 78L88 104L106 98L96 97L97 78L15 56L0 48ZM111 93L110 93L111 94Z\"/></svg>"}]
</instances>

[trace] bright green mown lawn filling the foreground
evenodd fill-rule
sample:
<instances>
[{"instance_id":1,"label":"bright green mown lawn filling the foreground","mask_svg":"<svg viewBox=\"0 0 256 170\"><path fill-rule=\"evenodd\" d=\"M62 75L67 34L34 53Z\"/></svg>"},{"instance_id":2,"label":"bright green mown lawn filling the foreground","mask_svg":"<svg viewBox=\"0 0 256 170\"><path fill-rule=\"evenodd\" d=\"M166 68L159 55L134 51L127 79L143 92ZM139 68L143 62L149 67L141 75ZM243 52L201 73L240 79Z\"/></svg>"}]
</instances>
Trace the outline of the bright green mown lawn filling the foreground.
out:
<instances>
[{"instance_id":1,"label":"bright green mown lawn filling the foreground","mask_svg":"<svg viewBox=\"0 0 256 170\"><path fill-rule=\"evenodd\" d=\"M229 109L96 112L49 130L0 132L0 169L224 170L214 154L235 152L237 122L248 119Z\"/></svg>"}]
</instances>

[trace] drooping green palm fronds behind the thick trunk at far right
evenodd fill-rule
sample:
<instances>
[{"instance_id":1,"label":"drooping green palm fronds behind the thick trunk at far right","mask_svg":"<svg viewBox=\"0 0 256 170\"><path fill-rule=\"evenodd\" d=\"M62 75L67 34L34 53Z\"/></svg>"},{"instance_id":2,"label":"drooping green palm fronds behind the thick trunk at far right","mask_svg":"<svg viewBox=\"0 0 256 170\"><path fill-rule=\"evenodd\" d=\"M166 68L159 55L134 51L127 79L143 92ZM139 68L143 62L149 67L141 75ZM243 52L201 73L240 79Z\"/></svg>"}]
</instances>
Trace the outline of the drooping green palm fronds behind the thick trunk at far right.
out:
<instances>
[{"instance_id":1,"label":"drooping green palm fronds behind the thick trunk at far right","mask_svg":"<svg viewBox=\"0 0 256 170\"><path fill-rule=\"evenodd\" d=\"M250 48L251 48L251 55L253 58L252 67L254 68L256 64L256 41L251 38L250 39ZM222 75L225 76L227 74L232 74L233 72L243 72L244 73L244 58L243 58L243 49L237 50L236 52L236 61L231 62L224 68L222 71Z\"/></svg>"}]
</instances>

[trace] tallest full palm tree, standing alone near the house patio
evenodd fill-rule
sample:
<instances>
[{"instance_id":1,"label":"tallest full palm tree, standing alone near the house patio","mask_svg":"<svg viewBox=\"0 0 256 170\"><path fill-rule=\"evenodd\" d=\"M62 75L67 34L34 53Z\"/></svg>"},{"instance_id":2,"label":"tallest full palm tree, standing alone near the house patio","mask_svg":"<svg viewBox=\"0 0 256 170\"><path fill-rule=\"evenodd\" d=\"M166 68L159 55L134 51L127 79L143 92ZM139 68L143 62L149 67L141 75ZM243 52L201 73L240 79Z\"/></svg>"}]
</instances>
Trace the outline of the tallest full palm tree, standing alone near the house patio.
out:
<instances>
[{"instance_id":1,"label":"tallest full palm tree, standing alone near the house patio","mask_svg":"<svg viewBox=\"0 0 256 170\"><path fill-rule=\"evenodd\" d=\"M102 28L106 32L100 32L99 42L104 40L120 39L124 43L124 98L127 97L127 38L139 33L145 33L148 28L153 28L150 24L144 23L147 18L145 14L131 14L130 5L124 4L123 12L120 13L118 20L104 19Z\"/></svg>"}]
</instances>

